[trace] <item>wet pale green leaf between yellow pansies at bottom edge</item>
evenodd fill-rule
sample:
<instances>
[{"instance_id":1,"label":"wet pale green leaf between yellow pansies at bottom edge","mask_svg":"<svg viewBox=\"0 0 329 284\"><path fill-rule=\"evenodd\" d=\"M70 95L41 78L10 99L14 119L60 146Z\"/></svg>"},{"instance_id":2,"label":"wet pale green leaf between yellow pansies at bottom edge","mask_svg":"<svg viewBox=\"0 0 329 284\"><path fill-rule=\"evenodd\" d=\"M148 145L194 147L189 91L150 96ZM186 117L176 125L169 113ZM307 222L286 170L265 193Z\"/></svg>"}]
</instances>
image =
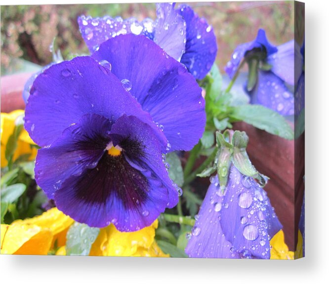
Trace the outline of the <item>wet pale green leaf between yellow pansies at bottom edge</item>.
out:
<instances>
[{"instance_id":1,"label":"wet pale green leaf between yellow pansies at bottom edge","mask_svg":"<svg viewBox=\"0 0 329 284\"><path fill-rule=\"evenodd\" d=\"M75 222L66 235L66 254L88 255L98 234L99 228L91 228L86 224Z\"/></svg>"}]
</instances>

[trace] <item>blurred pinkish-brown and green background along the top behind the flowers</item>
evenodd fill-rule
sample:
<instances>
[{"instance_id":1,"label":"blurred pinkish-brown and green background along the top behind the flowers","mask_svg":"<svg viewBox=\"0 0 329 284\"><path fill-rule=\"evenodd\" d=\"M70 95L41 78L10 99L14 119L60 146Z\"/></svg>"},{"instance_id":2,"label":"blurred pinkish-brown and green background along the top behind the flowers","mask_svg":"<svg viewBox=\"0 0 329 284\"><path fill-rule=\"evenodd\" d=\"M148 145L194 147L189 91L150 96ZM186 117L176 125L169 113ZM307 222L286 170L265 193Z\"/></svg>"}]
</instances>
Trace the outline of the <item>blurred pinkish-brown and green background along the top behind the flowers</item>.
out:
<instances>
[{"instance_id":1,"label":"blurred pinkish-brown and green background along the top behind the flowers","mask_svg":"<svg viewBox=\"0 0 329 284\"><path fill-rule=\"evenodd\" d=\"M259 28L266 30L275 45L293 39L293 1L188 4L214 28L216 61L221 71L236 45L252 41ZM77 23L82 14L156 18L154 3L1 6L1 76L33 72L39 69L34 64L49 64L49 46L54 38L64 59L69 59L70 54L88 53Z\"/></svg>"}]
</instances>

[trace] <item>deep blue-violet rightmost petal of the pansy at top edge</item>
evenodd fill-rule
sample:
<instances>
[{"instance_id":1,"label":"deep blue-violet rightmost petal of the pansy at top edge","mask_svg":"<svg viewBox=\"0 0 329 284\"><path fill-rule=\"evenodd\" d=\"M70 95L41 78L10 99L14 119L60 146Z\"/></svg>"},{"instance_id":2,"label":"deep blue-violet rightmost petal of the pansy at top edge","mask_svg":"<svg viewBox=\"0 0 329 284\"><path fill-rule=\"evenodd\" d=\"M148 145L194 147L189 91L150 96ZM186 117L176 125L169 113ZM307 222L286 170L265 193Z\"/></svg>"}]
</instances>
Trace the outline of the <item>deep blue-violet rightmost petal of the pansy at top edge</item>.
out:
<instances>
[{"instance_id":1,"label":"deep blue-violet rightmost petal of the pansy at top edge","mask_svg":"<svg viewBox=\"0 0 329 284\"><path fill-rule=\"evenodd\" d=\"M180 62L196 79L202 80L210 71L216 58L215 34L206 20L199 18L190 6L181 5L177 11L186 22L186 47Z\"/></svg>"}]
</instances>

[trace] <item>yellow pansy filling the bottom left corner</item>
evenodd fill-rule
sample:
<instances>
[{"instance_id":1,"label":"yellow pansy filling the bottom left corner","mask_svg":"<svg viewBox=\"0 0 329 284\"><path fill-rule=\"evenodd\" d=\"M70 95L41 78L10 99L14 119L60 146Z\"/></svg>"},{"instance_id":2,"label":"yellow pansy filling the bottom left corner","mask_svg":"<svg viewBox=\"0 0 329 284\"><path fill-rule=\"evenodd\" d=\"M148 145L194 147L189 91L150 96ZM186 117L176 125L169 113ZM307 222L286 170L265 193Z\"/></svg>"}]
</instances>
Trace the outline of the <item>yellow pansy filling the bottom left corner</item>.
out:
<instances>
[{"instance_id":1,"label":"yellow pansy filling the bottom left corner","mask_svg":"<svg viewBox=\"0 0 329 284\"><path fill-rule=\"evenodd\" d=\"M47 254L56 242L64 245L74 220L57 208L33 218L1 224L2 254Z\"/></svg>"}]
</instances>

